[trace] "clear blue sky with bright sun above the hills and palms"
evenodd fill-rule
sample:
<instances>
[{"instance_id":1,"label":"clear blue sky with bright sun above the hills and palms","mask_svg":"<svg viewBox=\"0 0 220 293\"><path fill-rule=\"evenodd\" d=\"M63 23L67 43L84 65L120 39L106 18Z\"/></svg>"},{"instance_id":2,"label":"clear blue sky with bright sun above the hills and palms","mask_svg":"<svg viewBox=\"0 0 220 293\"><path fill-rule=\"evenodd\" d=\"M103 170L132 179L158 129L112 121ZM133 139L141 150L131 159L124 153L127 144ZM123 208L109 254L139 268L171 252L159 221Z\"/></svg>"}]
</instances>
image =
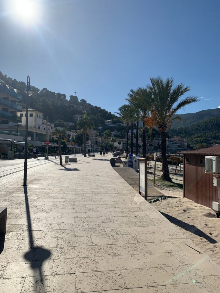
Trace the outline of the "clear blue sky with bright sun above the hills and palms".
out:
<instances>
[{"instance_id":1,"label":"clear blue sky with bright sun above the hills and palms","mask_svg":"<svg viewBox=\"0 0 220 293\"><path fill-rule=\"evenodd\" d=\"M220 1L39 0L29 21L2 1L0 71L11 78L114 113L150 76L173 76L200 99L181 113L220 106Z\"/></svg>"}]
</instances>

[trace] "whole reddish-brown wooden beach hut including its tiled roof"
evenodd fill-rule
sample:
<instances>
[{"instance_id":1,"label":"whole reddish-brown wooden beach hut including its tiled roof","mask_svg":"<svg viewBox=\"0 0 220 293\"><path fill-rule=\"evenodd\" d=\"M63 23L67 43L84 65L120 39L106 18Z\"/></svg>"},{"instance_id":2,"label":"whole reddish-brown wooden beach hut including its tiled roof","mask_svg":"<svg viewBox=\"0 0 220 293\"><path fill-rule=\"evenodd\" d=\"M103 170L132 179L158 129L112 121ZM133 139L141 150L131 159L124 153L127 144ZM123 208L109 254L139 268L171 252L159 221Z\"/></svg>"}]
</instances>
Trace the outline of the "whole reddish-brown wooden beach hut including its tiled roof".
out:
<instances>
[{"instance_id":1,"label":"whole reddish-brown wooden beach hut including its tiled roof","mask_svg":"<svg viewBox=\"0 0 220 293\"><path fill-rule=\"evenodd\" d=\"M213 186L213 174L205 173L205 156L220 156L220 145L182 151L184 155L183 196L210 207L218 201L218 188Z\"/></svg>"}]
</instances>

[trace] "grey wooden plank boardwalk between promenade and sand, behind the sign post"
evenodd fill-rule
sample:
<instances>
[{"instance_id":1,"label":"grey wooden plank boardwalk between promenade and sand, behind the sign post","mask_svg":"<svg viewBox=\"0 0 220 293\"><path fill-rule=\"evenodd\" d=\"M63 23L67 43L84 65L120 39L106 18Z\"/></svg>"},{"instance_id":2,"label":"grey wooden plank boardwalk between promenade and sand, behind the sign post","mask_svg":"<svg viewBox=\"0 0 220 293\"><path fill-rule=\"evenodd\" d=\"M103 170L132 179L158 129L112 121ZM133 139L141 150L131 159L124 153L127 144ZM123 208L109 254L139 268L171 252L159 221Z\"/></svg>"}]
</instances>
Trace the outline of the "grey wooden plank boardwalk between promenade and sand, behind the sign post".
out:
<instances>
[{"instance_id":1,"label":"grey wooden plank boardwalk between promenade and sand, behind the sign post","mask_svg":"<svg viewBox=\"0 0 220 293\"><path fill-rule=\"evenodd\" d=\"M133 168L113 167L113 169L137 192L139 192L139 175ZM148 200L164 196L163 193L148 183Z\"/></svg>"}]
</instances>

